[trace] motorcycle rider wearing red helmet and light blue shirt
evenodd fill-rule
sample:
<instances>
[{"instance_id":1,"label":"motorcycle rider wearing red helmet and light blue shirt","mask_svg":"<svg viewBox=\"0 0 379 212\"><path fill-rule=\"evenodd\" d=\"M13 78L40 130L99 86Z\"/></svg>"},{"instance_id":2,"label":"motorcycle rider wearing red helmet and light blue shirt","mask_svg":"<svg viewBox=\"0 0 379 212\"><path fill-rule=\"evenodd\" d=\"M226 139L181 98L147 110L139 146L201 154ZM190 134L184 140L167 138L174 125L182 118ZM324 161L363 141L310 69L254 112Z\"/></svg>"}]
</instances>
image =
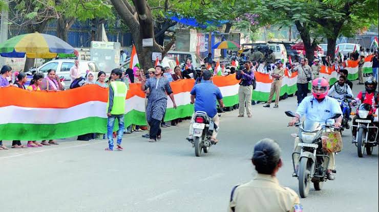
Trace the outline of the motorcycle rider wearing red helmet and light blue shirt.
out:
<instances>
[{"instance_id":1,"label":"motorcycle rider wearing red helmet and light blue shirt","mask_svg":"<svg viewBox=\"0 0 379 212\"><path fill-rule=\"evenodd\" d=\"M299 122L300 119L305 116L305 119L310 121L317 121L320 124L325 124L325 121L328 124L333 124L336 128L341 126L342 116L333 119L328 119L333 114L342 114L340 104L337 100L327 96L329 90L329 83L324 78L317 78L312 81L312 96L305 97L302 102L299 104L299 107L295 113L296 117L294 117L289 125L294 125ZM298 146L300 142L299 137L295 138L294 147L295 152L300 153L301 147ZM334 180L334 175L332 170L335 169L335 158L334 153L327 154L330 158L328 167L327 167L327 178L329 180ZM296 170L299 166L299 155L294 154L293 162L296 165ZM297 175L297 173L294 173Z\"/></svg>"}]
</instances>

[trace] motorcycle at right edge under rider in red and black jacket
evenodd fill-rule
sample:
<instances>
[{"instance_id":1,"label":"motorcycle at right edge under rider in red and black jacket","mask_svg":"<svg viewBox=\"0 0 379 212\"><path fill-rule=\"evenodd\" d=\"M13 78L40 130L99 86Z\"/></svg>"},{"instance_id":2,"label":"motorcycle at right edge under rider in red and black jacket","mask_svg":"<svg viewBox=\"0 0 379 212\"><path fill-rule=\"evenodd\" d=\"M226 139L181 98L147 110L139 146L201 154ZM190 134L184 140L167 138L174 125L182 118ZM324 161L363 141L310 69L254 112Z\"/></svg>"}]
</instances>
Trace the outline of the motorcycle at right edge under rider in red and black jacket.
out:
<instances>
[{"instance_id":1,"label":"motorcycle at right edge under rider in red and black jacket","mask_svg":"<svg viewBox=\"0 0 379 212\"><path fill-rule=\"evenodd\" d=\"M377 108L378 105L373 105L373 107ZM366 148L367 155L371 155L377 143L377 134L378 134L378 111L376 109L375 114L373 113L373 107L370 104L362 103L359 105L356 115L359 119L356 119L356 125L351 125L351 129L353 127L356 128L355 140L353 138L352 143L357 147L358 157L362 158L363 153ZM354 115L354 113L352 113Z\"/></svg>"}]
</instances>

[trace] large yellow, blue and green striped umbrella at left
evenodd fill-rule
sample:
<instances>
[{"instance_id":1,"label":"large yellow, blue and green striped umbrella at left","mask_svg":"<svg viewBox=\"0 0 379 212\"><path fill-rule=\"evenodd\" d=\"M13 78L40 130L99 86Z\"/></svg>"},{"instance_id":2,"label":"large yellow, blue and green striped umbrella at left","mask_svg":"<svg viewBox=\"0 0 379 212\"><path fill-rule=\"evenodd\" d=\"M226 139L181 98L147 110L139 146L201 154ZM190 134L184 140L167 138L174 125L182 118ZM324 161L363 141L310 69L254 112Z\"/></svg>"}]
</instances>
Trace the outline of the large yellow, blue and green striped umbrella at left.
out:
<instances>
[{"instance_id":1,"label":"large yellow, blue and green striped umbrella at left","mask_svg":"<svg viewBox=\"0 0 379 212\"><path fill-rule=\"evenodd\" d=\"M3 57L55 58L58 53L73 54L74 48L60 38L30 33L12 37L0 44Z\"/></svg>"}]
</instances>

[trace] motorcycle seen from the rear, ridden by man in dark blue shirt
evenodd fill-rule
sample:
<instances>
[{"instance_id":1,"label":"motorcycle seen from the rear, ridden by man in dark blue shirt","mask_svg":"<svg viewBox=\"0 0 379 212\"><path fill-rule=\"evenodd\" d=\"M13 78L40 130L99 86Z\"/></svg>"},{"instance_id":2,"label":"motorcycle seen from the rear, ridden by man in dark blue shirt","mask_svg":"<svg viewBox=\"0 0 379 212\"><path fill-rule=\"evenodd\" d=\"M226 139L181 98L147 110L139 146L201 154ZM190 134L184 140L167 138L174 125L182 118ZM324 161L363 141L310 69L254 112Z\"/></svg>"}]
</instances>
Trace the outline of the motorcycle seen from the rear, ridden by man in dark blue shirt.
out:
<instances>
[{"instance_id":1,"label":"motorcycle seen from the rear, ridden by man in dark blue shirt","mask_svg":"<svg viewBox=\"0 0 379 212\"><path fill-rule=\"evenodd\" d=\"M194 128L193 137L188 141L195 146L196 157L200 157L201 150L208 153L210 146L215 144L210 141L210 137L212 137L213 131L218 130L218 126L204 111L195 112L195 122L192 124Z\"/></svg>"}]
</instances>

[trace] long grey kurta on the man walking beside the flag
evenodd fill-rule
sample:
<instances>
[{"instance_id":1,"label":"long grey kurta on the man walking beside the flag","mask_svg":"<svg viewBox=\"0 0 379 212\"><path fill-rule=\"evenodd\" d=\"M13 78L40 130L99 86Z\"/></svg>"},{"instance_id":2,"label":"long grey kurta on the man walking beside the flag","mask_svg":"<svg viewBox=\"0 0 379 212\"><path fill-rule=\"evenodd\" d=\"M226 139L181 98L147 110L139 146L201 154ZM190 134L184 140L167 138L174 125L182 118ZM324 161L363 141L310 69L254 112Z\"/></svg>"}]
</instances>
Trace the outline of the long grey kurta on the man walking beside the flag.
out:
<instances>
[{"instance_id":1,"label":"long grey kurta on the man walking beside the flag","mask_svg":"<svg viewBox=\"0 0 379 212\"><path fill-rule=\"evenodd\" d=\"M145 90L149 89L148 107L146 107L146 119L162 120L167 107L167 94L173 93L170 82L165 77L149 78L145 83ZM167 94L166 94L167 93Z\"/></svg>"}]
</instances>

